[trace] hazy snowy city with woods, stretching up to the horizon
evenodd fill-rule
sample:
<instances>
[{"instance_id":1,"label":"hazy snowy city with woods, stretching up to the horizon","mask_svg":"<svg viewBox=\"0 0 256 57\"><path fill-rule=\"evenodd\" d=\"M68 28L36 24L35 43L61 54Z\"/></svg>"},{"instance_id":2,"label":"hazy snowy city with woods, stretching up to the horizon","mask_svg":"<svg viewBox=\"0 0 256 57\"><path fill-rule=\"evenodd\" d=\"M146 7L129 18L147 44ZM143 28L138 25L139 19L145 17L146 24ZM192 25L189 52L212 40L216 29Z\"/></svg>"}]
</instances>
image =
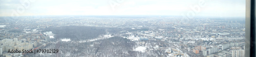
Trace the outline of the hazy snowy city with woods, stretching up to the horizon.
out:
<instances>
[{"instance_id":1,"label":"hazy snowy city with woods, stretching up to the horizon","mask_svg":"<svg viewBox=\"0 0 256 57\"><path fill-rule=\"evenodd\" d=\"M1 17L2 56L242 57L244 18L173 16ZM57 53L9 53L58 49Z\"/></svg>"}]
</instances>

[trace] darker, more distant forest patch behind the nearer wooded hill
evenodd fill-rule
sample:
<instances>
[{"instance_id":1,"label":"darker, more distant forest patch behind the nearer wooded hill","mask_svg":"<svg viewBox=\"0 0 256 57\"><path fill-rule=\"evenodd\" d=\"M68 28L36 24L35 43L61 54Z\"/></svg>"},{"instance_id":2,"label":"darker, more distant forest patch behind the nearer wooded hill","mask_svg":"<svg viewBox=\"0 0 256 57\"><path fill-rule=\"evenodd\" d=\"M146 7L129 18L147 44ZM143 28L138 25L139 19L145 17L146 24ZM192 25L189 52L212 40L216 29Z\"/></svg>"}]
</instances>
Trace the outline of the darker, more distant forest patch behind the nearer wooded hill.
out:
<instances>
[{"instance_id":1,"label":"darker, more distant forest patch behind the nearer wooded hill","mask_svg":"<svg viewBox=\"0 0 256 57\"><path fill-rule=\"evenodd\" d=\"M70 38L71 40L84 40L96 38L106 32L118 33L120 28L103 28L103 27L89 27L89 26L60 26L49 27L42 32L52 31L55 39Z\"/></svg>"}]
</instances>

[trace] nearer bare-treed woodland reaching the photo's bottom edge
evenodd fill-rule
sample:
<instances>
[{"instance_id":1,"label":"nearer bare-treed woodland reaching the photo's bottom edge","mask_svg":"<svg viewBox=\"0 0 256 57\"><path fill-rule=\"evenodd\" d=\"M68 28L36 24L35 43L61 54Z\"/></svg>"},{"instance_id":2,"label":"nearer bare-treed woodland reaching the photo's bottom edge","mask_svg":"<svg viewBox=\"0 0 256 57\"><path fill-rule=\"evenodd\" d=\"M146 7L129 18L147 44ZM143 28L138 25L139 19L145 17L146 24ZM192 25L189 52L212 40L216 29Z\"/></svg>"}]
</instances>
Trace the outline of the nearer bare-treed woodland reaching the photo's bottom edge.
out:
<instances>
[{"instance_id":1,"label":"nearer bare-treed woodland reaching the photo's bottom edge","mask_svg":"<svg viewBox=\"0 0 256 57\"><path fill-rule=\"evenodd\" d=\"M109 39L98 40L94 42L62 42L49 44L43 49L58 49L58 53L36 53L35 56L155 56L145 52L134 51L135 42L122 38L111 37Z\"/></svg>"}]
</instances>

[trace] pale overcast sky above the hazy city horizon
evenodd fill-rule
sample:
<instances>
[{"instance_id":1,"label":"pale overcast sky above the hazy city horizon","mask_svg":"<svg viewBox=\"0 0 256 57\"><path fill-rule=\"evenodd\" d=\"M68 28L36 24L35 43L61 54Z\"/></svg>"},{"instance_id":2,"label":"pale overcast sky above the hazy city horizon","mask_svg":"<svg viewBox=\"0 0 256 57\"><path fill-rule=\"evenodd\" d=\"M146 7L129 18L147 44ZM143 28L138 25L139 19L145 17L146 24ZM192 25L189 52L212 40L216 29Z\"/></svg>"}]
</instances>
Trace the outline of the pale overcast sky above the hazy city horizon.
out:
<instances>
[{"instance_id":1,"label":"pale overcast sky above the hazy city horizon","mask_svg":"<svg viewBox=\"0 0 256 57\"><path fill-rule=\"evenodd\" d=\"M170 15L244 17L245 0L0 0L0 16ZM122 2L123 1L123 2ZM191 12L191 6L204 7ZM113 3L116 6L111 5ZM25 7L23 6L25 4ZM197 9L197 8L196 8Z\"/></svg>"}]
</instances>

